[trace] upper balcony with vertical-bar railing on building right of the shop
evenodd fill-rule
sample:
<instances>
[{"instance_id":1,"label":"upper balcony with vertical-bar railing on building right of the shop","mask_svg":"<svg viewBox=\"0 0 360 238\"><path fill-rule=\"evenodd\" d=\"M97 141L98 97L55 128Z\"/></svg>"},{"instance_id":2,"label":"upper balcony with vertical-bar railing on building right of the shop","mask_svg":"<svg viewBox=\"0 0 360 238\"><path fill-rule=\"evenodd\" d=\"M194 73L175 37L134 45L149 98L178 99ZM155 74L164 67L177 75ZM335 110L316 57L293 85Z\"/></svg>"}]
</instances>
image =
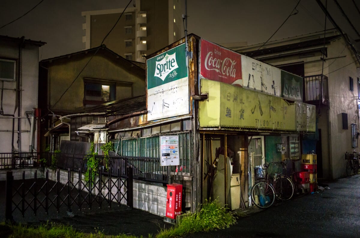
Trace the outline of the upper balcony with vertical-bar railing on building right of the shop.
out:
<instances>
[{"instance_id":1,"label":"upper balcony with vertical-bar railing on building right of the shop","mask_svg":"<svg viewBox=\"0 0 360 238\"><path fill-rule=\"evenodd\" d=\"M329 105L328 77L322 74L304 77L303 102Z\"/></svg>"}]
</instances>

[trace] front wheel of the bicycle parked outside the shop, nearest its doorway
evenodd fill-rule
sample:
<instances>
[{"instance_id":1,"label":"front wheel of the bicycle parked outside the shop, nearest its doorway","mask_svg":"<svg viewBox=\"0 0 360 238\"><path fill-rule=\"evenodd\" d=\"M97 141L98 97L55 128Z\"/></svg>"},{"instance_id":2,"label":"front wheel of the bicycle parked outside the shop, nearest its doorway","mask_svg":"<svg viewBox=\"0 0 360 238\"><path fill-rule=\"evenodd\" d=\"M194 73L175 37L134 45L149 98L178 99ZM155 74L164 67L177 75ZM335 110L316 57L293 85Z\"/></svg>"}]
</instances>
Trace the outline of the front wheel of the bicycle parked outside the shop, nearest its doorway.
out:
<instances>
[{"instance_id":1,"label":"front wheel of the bicycle parked outside the shop, nearest its doorway","mask_svg":"<svg viewBox=\"0 0 360 238\"><path fill-rule=\"evenodd\" d=\"M258 182L251 188L251 201L260 208L268 208L275 201L275 190L271 184Z\"/></svg>"}]
</instances>

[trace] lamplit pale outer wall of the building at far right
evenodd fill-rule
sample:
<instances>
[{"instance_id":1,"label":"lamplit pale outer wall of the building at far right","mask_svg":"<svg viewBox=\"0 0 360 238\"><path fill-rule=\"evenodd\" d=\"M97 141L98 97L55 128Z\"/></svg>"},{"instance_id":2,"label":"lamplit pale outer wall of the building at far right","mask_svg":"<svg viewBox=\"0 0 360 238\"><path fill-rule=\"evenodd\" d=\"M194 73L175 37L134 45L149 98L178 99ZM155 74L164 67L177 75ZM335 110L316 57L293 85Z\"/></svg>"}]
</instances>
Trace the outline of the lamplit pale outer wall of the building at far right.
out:
<instances>
[{"instance_id":1,"label":"lamplit pale outer wall of the building at far right","mask_svg":"<svg viewBox=\"0 0 360 238\"><path fill-rule=\"evenodd\" d=\"M332 42L328 57L346 55L329 65L329 123L330 123L330 161L333 167L333 178L346 175L345 152L352 151L351 123L358 124L357 115L357 79L356 64L351 51L342 39ZM349 64L349 65L348 65ZM348 65L344 67L345 65ZM349 77L354 80L354 91L350 91ZM348 129L342 129L341 113L347 113Z\"/></svg>"}]
</instances>

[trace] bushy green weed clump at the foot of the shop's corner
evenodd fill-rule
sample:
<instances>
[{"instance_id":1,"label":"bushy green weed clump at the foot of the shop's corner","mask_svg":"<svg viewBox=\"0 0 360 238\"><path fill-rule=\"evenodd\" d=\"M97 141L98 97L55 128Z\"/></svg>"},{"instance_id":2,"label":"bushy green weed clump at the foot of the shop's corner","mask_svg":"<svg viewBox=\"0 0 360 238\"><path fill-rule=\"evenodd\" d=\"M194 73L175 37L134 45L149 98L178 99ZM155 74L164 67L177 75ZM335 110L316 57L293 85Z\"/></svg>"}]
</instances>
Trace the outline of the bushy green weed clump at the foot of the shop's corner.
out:
<instances>
[{"instance_id":1,"label":"bushy green weed clump at the foot of the shop's corner","mask_svg":"<svg viewBox=\"0 0 360 238\"><path fill-rule=\"evenodd\" d=\"M234 224L236 219L231 212L223 207L219 200L208 201L202 204L198 212L187 212L180 219L179 224L170 229L159 232L157 238L179 237L195 232L209 232L224 229Z\"/></svg>"}]
</instances>

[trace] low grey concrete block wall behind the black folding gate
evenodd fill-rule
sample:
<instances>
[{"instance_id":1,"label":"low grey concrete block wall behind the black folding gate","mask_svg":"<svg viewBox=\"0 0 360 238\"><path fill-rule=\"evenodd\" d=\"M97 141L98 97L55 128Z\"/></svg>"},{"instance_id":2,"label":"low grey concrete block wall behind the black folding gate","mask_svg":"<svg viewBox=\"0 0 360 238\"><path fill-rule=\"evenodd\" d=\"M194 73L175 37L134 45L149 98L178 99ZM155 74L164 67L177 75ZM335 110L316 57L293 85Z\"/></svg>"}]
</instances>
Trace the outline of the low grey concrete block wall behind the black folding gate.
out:
<instances>
[{"instance_id":1,"label":"low grey concrete block wall behind the black folding gate","mask_svg":"<svg viewBox=\"0 0 360 238\"><path fill-rule=\"evenodd\" d=\"M45 178L45 171L48 168L40 169L40 168L25 168L25 169L17 169L13 171L14 180L22 179L22 173L25 171L25 178L26 179L33 179L35 170L37 170L37 178ZM81 175L82 179L85 178L85 175ZM57 174L56 170L49 169L49 179L52 181L57 181ZM99 178L96 178L96 182ZM107 177L104 177L107 179ZM6 171L0 170L0 181L6 180ZM78 182L78 173L71 172L71 182L76 184ZM67 170L60 170L60 183L66 184L68 181L68 171ZM112 178L113 182L116 182L116 178ZM148 211L152 214L158 216L165 216L166 211L166 187L162 186L161 183L152 183L152 182L145 182L142 180L133 180L133 202L134 208ZM85 187L83 191L87 192L88 189ZM93 190L93 194L98 193L98 189ZM103 188L102 194L108 194L108 189ZM121 193L125 194L126 189L121 188ZM117 189L113 187L111 189L111 193L113 196L116 196ZM125 199L121 199L121 204L126 204Z\"/></svg>"}]
</instances>

